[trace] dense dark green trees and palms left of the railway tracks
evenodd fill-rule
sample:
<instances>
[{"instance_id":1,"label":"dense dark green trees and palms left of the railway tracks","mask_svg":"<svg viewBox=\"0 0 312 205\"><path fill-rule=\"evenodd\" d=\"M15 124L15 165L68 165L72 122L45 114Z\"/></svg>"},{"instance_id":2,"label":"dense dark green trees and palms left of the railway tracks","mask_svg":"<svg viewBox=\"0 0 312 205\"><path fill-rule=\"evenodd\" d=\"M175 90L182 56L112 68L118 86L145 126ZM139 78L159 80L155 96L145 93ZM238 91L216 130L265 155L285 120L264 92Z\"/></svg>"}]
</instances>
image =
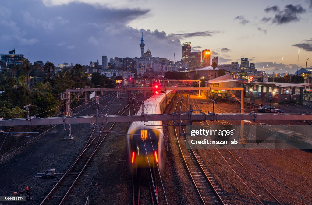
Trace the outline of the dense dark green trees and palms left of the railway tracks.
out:
<instances>
[{"instance_id":1,"label":"dense dark green trees and palms left of the railway tracks","mask_svg":"<svg viewBox=\"0 0 312 205\"><path fill-rule=\"evenodd\" d=\"M41 67L31 65L24 59L21 65L10 65L0 71L0 91L5 91L0 95L0 117L24 118L26 110L22 107L29 104L30 116L53 116L63 109L60 93L68 88L82 88L85 85L115 87L113 80L98 73L94 73L90 79L80 64L55 72L51 62Z\"/></svg>"}]
</instances>

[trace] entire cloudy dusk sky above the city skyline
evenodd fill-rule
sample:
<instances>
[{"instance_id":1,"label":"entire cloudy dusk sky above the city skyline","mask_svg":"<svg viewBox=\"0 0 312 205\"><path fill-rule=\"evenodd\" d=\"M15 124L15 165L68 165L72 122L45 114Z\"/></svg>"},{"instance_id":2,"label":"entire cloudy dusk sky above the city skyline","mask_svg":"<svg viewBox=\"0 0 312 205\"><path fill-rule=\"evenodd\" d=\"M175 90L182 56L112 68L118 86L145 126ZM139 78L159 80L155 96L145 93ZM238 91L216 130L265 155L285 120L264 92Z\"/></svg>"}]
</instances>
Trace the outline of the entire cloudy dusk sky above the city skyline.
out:
<instances>
[{"instance_id":1,"label":"entire cloudy dusk sky above the city skyline","mask_svg":"<svg viewBox=\"0 0 312 205\"><path fill-rule=\"evenodd\" d=\"M242 56L272 71L283 57L283 72L294 73L299 49L299 68L312 57L311 20L312 0L6 0L0 53L15 49L31 62L56 65L139 57L143 24L144 52L152 56L180 60L181 44L190 41L193 51L219 56L219 64Z\"/></svg>"}]
</instances>

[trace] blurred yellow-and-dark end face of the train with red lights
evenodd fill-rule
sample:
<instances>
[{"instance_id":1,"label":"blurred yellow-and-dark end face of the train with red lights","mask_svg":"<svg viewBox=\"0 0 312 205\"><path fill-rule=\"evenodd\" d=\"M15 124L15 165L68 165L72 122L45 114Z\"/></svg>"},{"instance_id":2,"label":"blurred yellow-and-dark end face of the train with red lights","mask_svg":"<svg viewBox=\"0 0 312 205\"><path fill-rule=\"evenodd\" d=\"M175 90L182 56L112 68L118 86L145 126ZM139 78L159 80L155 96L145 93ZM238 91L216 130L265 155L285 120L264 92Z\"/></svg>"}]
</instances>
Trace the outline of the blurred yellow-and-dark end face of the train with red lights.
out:
<instances>
[{"instance_id":1,"label":"blurred yellow-and-dark end face of the train with red lights","mask_svg":"<svg viewBox=\"0 0 312 205\"><path fill-rule=\"evenodd\" d=\"M160 128L162 130L162 128ZM130 172L157 170L163 168L163 140L160 129L133 128L128 130L128 153Z\"/></svg>"}]
</instances>

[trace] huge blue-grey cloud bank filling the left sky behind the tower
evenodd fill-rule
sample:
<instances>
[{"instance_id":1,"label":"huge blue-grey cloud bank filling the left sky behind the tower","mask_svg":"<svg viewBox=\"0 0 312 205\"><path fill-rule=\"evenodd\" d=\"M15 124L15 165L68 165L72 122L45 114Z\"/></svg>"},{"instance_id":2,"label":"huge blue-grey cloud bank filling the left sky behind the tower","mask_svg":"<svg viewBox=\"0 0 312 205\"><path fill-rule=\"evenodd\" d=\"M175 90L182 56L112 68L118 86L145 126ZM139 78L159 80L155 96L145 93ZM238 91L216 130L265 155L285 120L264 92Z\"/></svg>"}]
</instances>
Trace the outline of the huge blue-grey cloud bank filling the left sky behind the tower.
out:
<instances>
[{"instance_id":1,"label":"huge blue-grey cloud bank filling the left sky behind the tower","mask_svg":"<svg viewBox=\"0 0 312 205\"><path fill-rule=\"evenodd\" d=\"M46 7L41 0L7 1L0 6L1 53L15 48L29 53L31 62L51 61L88 64L101 56L140 56L141 27L127 26L136 18L149 15L148 9L112 9L72 2ZM144 26L144 25L143 25ZM181 58L181 41L186 36L215 32L166 34L143 30L144 51L153 56Z\"/></svg>"}]
</instances>

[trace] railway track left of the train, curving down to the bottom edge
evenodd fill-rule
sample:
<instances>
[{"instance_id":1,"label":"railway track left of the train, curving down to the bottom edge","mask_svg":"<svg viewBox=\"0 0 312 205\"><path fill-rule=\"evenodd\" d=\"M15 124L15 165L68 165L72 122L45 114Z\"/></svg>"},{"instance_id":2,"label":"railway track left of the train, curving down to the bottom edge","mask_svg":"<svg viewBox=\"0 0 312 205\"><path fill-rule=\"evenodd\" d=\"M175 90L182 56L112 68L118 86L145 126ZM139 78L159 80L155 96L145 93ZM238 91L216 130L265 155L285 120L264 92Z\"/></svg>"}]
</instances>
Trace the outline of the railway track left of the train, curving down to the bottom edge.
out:
<instances>
[{"instance_id":1,"label":"railway track left of the train, curving down to the bottom edge","mask_svg":"<svg viewBox=\"0 0 312 205\"><path fill-rule=\"evenodd\" d=\"M113 99L113 98L112 98ZM112 100L111 99L111 100ZM115 100L115 98L114 98ZM113 104L114 100L112 100L110 106ZM110 101L109 101L110 102ZM107 105L109 104L107 103ZM130 101L129 101L130 103ZM106 105L106 106L107 106ZM106 108L105 106L105 108ZM108 110L110 109L107 109ZM126 105L124 108L122 108L119 112L117 112L115 115L123 115L126 113L133 105L129 106ZM101 113L105 111L105 108L102 110ZM106 113L107 113L106 112ZM108 131L110 131L114 127L115 123L106 123L105 126L109 126L110 128ZM102 129L104 129L104 127ZM101 131L102 131L101 129ZM101 134L93 136L95 133L95 127L92 130L92 133L90 135L89 140L85 144L85 147L82 149L81 153L78 155L76 160L73 162L73 164L68 168L68 170L65 172L65 174L61 177L61 179L56 183L56 185L51 189L51 191L44 197L40 205L43 204L63 204L65 203L66 198L68 197L69 193L71 192L72 188L75 186L76 182L80 178L81 174L89 164L92 157L95 155L96 151L102 144L102 142L106 139L107 134L102 136Z\"/></svg>"}]
</instances>

